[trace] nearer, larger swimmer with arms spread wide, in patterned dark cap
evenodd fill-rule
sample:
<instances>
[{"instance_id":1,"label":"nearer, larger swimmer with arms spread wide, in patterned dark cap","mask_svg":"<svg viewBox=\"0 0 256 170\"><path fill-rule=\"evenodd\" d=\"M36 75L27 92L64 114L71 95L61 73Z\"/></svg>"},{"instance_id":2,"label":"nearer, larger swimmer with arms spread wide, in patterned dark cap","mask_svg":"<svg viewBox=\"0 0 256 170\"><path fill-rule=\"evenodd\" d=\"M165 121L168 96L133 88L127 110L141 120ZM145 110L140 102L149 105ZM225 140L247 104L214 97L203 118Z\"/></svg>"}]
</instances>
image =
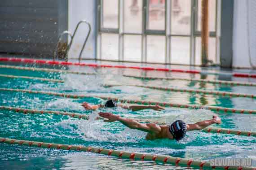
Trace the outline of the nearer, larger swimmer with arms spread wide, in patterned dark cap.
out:
<instances>
[{"instance_id":1,"label":"nearer, larger swimmer with arms spread wide, in patterned dark cap","mask_svg":"<svg viewBox=\"0 0 256 170\"><path fill-rule=\"evenodd\" d=\"M156 123L140 123L134 119L122 118L119 115L112 113L99 113L102 118L106 118L104 122L119 121L131 129L147 132L146 140L154 139L176 139L177 141L183 139L187 131L199 131L212 124L220 124L221 118L213 116L210 120L196 122L194 124L186 124L182 120L173 122L168 125L157 125Z\"/></svg>"}]
</instances>

